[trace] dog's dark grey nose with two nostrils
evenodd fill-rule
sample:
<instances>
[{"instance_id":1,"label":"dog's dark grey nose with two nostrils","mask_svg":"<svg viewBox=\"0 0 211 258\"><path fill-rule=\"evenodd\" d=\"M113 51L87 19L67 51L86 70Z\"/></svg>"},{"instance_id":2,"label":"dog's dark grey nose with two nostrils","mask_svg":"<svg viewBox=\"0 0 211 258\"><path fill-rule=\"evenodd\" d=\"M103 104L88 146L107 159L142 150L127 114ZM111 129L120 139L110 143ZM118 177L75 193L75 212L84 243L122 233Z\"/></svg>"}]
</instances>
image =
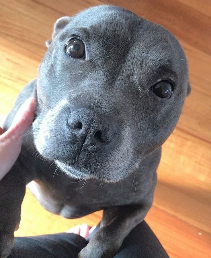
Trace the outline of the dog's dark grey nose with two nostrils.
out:
<instances>
[{"instance_id":1,"label":"dog's dark grey nose with two nostrils","mask_svg":"<svg viewBox=\"0 0 211 258\"><path fill-rule=\"evenodd\" d=\"M79 145L86 145L89 149L90 146L99 147L111 143L116 133L114 122L87 108L71 111L68 125L71 136Z\"/></svg>"}]
</instances>

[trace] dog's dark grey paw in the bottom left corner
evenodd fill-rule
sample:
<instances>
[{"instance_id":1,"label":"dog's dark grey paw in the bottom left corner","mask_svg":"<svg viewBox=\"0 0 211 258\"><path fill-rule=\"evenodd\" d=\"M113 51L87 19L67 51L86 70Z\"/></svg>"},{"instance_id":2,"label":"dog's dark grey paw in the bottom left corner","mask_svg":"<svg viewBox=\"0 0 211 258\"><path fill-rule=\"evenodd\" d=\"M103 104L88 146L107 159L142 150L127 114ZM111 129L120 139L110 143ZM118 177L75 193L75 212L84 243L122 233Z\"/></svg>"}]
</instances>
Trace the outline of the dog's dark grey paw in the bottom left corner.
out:
<instances>
[{"instance_id":1,"label":"dog's dark grey paw in the bottom left corner","mask_svg":"<svg viewBox=\"0 0 211 258\"><path fill-rule=\"evenodd\" d=\"M13 246L14 235L8 233L0 233L0 258L9 256L10 250Z\"/></svg>"}]
</instances>

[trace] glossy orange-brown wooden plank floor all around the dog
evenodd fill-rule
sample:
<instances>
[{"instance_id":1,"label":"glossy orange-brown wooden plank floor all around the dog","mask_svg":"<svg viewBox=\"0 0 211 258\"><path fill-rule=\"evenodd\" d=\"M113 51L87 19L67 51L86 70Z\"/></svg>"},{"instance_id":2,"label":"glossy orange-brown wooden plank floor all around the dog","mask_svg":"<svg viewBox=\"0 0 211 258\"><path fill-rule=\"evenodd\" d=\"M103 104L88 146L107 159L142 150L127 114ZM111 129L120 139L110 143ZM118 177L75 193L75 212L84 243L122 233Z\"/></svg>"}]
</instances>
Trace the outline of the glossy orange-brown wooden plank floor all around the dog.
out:
<instances>
[{"instance_id":1,"label":"glossy orange-brown wooden plank floor all around the dog","mask_svg":"<svg viewBox=\"0 0 211 258\"><path fill-rule=\"evenodd\" d=\"M146 221L170 257L211 257L210 0L0 0L0 122L36 77L53 23L98 4L116 4L169 29L189 62L192 93L163 146L154 204ZM101 212L67 220L44 210L27 191L16 236L97 224Z\"/></svg>"}]
</instances>

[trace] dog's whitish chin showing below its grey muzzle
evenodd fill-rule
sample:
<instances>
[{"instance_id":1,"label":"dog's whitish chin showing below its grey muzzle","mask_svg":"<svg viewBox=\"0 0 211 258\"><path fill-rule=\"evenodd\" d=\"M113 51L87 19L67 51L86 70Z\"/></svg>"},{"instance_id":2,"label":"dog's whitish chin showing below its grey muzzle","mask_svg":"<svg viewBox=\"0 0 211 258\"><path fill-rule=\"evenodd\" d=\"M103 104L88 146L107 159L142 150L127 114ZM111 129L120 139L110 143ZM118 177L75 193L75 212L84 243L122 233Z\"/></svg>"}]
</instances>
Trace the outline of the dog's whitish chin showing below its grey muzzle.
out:
<instances>
[{"instance_id":1,"label":"dog's whitish chin showing below its grey muzzle","mask_svg":"<svg viewBox=\"0 0 211 258\"><path fill-rule=\"evenodd\" d=\"M60 161L55 161L55 163L58 165L58 167L65 172L69 177L73 177L75 179L88 179L91 178L91 176L85 172L85 171L79 171L77 169L74 169L70 165L67 165Z\"/></svg>"}]
</instances>

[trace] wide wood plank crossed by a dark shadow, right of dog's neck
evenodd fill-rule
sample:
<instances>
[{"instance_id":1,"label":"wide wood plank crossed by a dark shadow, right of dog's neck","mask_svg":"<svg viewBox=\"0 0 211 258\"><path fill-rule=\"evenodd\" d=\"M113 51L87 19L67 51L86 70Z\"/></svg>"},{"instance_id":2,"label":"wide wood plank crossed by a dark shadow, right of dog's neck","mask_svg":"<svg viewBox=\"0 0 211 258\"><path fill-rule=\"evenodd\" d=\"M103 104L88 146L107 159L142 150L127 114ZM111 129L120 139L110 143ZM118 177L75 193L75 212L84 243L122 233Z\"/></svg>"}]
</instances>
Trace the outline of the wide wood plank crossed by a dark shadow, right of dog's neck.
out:
<instances>
[{"instance_id":1,"label":"wide wood plank crossed by a dark shadow, right of dog's neck","mask_svg":"<svg viewBox=\"0 0 211 258\"><path fill-rule=\"evenodd\" d=\"M154 205L211 233L210 143L175 129L163 145Z\"/></svg>"}]
</instances>

